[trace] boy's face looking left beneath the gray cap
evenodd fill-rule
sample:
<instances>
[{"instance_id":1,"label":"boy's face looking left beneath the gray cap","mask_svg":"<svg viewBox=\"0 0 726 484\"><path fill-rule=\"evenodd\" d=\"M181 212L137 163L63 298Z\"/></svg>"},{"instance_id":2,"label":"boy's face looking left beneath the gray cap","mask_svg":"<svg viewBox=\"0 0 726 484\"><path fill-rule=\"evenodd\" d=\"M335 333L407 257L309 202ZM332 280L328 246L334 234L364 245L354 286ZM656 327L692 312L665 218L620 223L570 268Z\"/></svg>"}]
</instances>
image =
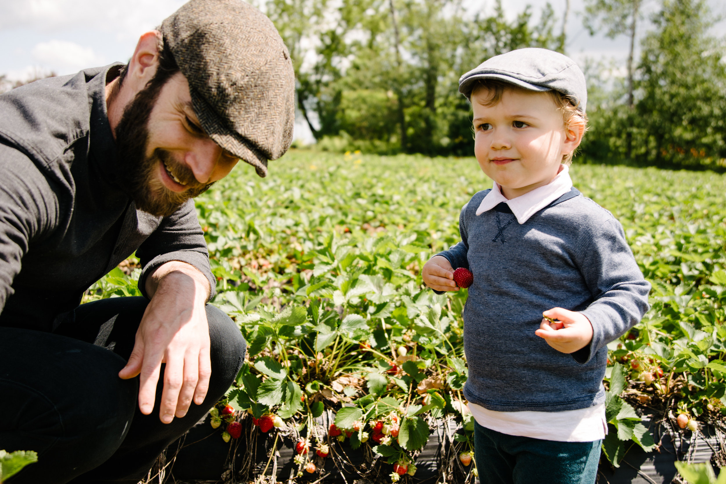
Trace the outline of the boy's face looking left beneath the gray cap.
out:
<instances>
[{"instance_id":1,"label":"boy's face looking left beneath the gray cap","mask_svg":"<svg viewBox=\"0 0 726 484\"><path fill-rule=\"evenodd\" d=\"M505 89L497 104L487 106L489 96L486 89L471 96L474 153L481 170L502 186L507 199L550 183L582 134L565 129L547 92Z\"/></svg>"}]
</instances>

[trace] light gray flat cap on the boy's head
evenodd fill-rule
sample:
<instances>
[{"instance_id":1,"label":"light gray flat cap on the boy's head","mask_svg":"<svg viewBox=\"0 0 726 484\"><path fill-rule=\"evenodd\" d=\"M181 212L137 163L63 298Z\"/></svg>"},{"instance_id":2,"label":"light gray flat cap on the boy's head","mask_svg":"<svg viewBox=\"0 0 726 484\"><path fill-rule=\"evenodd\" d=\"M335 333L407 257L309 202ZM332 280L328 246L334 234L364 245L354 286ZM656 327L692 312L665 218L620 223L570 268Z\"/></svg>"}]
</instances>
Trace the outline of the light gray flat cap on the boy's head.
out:
<instances>
[{"instance_id":1,"label":"light gray flat cap on the boy's head","mask_svg":"<svg viewBox=\"0 0 726 484\"><path fill-rule=\"evenodd\" d=\"M478 79L499 79L530 91L560 91L577 99L582 112L587 107L582 70L559 52L529 48L494 56L459 78L459 92L470 99Z\"/></svg>"}]
</instances>

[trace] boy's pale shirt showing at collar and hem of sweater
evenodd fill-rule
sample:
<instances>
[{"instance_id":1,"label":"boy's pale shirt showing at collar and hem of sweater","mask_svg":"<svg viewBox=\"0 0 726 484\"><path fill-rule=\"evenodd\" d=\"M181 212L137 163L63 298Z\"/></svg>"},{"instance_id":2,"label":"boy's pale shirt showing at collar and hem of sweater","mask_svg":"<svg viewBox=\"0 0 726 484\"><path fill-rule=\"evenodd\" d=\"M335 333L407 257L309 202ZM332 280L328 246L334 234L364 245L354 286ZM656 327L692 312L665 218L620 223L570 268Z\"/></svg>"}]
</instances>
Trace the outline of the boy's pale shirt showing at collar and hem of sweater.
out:
<instances>
[{"instance_id":1,"label":"boy's pale shirt showing at collar and hem of sweater","mask_svg":"<svg viewBox=\"0 0 726 484\"><path fill-rule=\"evenodd\" d=\"M549 184L540 186L519 197L507 200L502 195L502 188L494 181L492 191L481 200L476 215L492 210L492 208L505 202L512 209L517 221L522 224L531 216L547 207L572 189L569 168L560 165L560 171ZM476 422L507 435L521 435L524 437L542 440L555 440L558 442L592 442L605 438L608 424L605 422L605 405L592 406L587 409L566 411L494 411L485 409L476 403L469 403Z\"/></svg>"}]
</instances>

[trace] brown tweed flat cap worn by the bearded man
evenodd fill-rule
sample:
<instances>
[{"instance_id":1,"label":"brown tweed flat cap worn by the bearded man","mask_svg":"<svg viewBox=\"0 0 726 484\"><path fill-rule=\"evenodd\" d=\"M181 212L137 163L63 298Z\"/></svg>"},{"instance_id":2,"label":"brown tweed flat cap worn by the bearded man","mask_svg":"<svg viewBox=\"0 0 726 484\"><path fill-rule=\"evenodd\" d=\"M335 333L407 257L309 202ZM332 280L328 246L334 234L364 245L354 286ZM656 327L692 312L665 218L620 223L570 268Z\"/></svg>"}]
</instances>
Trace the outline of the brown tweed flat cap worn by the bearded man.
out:
<instances>
[{"instance_id":1,"label":"brown tweed flat cap worn by the bearded man","mask_svg":"<svg viewBox=\"0 0 726 484\"><path fill-rule=\"evenodd\" d=\"M204 131L266 176L295 124L293 62L272 22L242 0L191 0L161 33Z\"/></svg>"}]
</instances>

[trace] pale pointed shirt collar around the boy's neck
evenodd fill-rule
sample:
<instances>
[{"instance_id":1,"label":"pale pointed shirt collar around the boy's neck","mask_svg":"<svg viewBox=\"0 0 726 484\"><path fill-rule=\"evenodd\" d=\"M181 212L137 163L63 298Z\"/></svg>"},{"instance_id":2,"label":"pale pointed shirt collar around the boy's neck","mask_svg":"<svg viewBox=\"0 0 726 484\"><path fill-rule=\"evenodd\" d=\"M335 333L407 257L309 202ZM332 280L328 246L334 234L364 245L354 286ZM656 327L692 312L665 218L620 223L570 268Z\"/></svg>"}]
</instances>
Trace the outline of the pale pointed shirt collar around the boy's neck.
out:
<instances>
[{"instance_id":1,"label":"pale pointed shirt collar around the boy's neck","mask_svg":"<svg viewBox=\"0 0 726 484\"><path fill-rule=\"evenodd\" d=\"M512 209L512 213L517 218L517 221L522 224L529 220L531 216L547 207L550 203L562 197L572 189L572 179L569 174L569 167L566 165L560 165L560 172L555 176L550 183L540 186L527 192L519 197L507 200L502 195L502 189L496 181L492 186L492 191L486 194L484 200L481 200L479 208L476 209L476 215L492 210L492 208L499 205L499 203L505 202Z\"/></svg>"}]
</instances>

